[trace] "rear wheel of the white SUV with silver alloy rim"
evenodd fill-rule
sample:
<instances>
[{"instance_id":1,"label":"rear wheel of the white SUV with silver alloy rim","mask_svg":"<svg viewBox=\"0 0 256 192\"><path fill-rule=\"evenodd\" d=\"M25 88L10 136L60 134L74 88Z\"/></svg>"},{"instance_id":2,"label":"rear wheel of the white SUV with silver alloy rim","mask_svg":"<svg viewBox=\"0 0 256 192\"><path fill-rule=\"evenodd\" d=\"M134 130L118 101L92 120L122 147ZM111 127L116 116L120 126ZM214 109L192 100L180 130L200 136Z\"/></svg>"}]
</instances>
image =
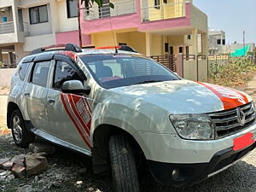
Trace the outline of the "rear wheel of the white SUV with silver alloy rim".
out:
<instances>
[{"instance_id":1,"label":"rear wheel of the white SUV with silver alloy rim","mask_svg":"<svg viewBox=\"0 0 256 192\"><path fill-rule=\"evenodd\" d=\"M19 109L16 109L12 113L10 125L17 146L27 148L30 143L34 142L35 136L26 129L24 119Z\"/></svg>"}]
</instances>

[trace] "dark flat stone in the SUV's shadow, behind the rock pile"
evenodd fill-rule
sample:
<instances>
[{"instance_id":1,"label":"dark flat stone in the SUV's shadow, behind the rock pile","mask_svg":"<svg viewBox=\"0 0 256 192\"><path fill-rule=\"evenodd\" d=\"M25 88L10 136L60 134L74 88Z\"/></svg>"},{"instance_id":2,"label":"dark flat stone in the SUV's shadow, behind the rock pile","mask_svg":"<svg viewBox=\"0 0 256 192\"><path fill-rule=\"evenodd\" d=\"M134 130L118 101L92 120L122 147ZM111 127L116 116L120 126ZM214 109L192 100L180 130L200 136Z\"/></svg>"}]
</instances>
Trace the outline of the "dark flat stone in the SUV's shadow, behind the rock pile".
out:
<instances>
[{"instance_id":1,"label":"dark flat stone in the SUV's shadow, behind the rock pile","mask_svg":"<svg viewBox=\"0 0 256 192\"><path fill-rule=\"evenodd\" d=\"M46 153L55 154L55 146L49 143L31 143L28 148L32 150L33 153Z\"/></svg>"}]
</instances>

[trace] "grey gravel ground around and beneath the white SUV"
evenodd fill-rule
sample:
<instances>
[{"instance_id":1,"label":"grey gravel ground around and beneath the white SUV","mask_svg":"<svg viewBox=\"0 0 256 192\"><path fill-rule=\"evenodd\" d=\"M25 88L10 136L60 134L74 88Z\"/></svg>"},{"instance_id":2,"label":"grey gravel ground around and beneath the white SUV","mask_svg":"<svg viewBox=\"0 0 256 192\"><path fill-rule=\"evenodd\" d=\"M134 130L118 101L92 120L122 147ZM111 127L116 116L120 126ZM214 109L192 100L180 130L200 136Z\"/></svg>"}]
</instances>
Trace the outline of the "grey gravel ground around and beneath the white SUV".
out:
<instances>
[{"instance_id":1,"label":"grey gravel ground around and beneath the white SUV","mask_svg":"<svg viewBox=\"0 0 256 192\"><path fill-rule=\"evenodd\" d=\"M29 149L15 146L12 137L0 137L0 158L29 154ZM246 158L207 180L184 189L162 186L150 174L140 177L142 192L256 192L256 150ZM38 176L0 180L0 191L85 191L111 192L109 175L92 174L90 158L57 148L48 156L49 169ZM3 171L0 171L0 173Z\"/></svg>"}]
</instances>

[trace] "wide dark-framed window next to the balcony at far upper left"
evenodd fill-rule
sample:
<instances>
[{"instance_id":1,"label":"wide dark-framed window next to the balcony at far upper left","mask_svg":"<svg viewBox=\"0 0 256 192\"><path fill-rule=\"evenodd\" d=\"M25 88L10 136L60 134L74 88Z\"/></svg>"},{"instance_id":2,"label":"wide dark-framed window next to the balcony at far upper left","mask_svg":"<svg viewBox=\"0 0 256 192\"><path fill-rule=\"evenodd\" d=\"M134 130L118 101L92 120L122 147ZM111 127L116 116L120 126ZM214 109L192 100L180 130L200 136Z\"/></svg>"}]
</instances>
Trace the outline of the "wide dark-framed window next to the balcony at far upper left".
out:
<instances>
[{"instance_id":1,"label":"wide dark-framed window next to the balcony at far upper left","mask_svg":"<svg viewBox=\"0 0 256 192\"><path fill-rule=\"evenodd\" d=\"M29 18L30 24L48 22L47 5L30 8Z\"/></svg>"}]
</instances>

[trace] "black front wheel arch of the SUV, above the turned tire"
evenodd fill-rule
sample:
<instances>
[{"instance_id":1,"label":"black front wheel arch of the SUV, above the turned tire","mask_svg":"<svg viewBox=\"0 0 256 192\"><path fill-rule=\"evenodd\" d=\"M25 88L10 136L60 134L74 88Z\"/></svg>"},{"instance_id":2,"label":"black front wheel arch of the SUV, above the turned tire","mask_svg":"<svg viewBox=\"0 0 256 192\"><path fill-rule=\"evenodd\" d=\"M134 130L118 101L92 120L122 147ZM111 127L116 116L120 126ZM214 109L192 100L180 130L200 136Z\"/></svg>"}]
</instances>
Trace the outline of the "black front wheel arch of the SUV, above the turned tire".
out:
<instances>
[{"instance_id":1,"label":"black front wheel arch of the SUV, above the turned tire","mask_svg":"<svg viewBox=\"0 0 256 192\"><path fill-rule=\"evenodd\" d=\"M109 154L108 154L108 142L109 138L114 134L124 134L129 138L132 148L135 148L137 154L140 154L145 158L143 149L137 143L137 140L124 129L115 125L102 124L98 125L93 134L93 147L92 152L92 165L93 172L101 173L109 171Z\"/></svg>"}]
</instances>

